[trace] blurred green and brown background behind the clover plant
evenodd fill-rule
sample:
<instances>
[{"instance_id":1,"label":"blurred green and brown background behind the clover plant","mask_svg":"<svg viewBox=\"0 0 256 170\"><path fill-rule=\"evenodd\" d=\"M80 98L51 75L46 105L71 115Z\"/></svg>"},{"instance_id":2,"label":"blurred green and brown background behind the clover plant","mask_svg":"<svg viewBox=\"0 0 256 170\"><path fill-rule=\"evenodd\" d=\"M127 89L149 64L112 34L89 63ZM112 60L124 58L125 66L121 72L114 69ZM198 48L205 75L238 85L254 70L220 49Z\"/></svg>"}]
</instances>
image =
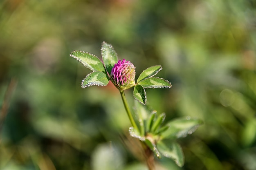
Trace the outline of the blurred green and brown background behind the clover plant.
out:
<instances>
[{"instance_id":1,"label":"blurred green and brown background behind the clover plant","mask_svg":"<svg viewBox=\"0 0 256 170\"><path fill-rule=\"evenodd\" d=\"M255 0L1 0L1 170L146 170L117 89L82 89L90 70L69 57L103 41L137 76L163 66L158 113L204 121L180 139L184 167L158 170L256 169Z\"/></svg>"}]
</instances>

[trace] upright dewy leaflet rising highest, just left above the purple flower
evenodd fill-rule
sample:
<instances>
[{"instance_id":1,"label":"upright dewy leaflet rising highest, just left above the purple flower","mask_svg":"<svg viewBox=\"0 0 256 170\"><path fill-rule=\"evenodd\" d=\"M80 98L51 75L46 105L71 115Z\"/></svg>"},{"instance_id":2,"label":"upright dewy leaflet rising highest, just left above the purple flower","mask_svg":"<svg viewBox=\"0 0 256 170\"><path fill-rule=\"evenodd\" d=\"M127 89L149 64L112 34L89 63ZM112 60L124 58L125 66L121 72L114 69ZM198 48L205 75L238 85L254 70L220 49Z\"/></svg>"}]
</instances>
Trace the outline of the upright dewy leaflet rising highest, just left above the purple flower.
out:
<instances>
[{"instance_id":1,"label":"upright dewy leaflet rising highest, just left above the purple flower","mask_svg":"<svg viewBox=\"0 0 256 170\"><path fill-rule=\"evenodd\" d=\"M101 56L102 56L104 65L106 66L106 69L108 71L108 74L110 75L112 68L118 61L117 53L115 52L115 49L111 44L102 42Z\"/></svg>"}]
</instances>

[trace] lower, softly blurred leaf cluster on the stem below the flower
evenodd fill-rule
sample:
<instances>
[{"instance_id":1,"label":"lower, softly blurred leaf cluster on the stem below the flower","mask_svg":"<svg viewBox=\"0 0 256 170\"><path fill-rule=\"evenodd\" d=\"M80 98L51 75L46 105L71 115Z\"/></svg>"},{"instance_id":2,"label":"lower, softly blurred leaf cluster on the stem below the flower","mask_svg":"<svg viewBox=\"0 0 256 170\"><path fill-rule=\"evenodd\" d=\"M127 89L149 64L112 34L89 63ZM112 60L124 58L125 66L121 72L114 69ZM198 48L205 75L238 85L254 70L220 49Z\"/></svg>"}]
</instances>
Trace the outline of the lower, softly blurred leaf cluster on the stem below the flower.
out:
<instances>
[{"instance_id":1,"label":"lower, softly blurred leaf cluster on the stem below the flower","mask_svg":"<svg viewBox=\"0 0 256 170\"><path fill-rule=\"evenodd\" d=\"M165 114L157 115L155 110L135 103L138 129L130 128L132 137L144 141L156 157L173 159L183 166L184 155L176 139L191 135L202 124L201 120L190 117L173 119L164 124Z\"/></svg>"}]
</instances>

